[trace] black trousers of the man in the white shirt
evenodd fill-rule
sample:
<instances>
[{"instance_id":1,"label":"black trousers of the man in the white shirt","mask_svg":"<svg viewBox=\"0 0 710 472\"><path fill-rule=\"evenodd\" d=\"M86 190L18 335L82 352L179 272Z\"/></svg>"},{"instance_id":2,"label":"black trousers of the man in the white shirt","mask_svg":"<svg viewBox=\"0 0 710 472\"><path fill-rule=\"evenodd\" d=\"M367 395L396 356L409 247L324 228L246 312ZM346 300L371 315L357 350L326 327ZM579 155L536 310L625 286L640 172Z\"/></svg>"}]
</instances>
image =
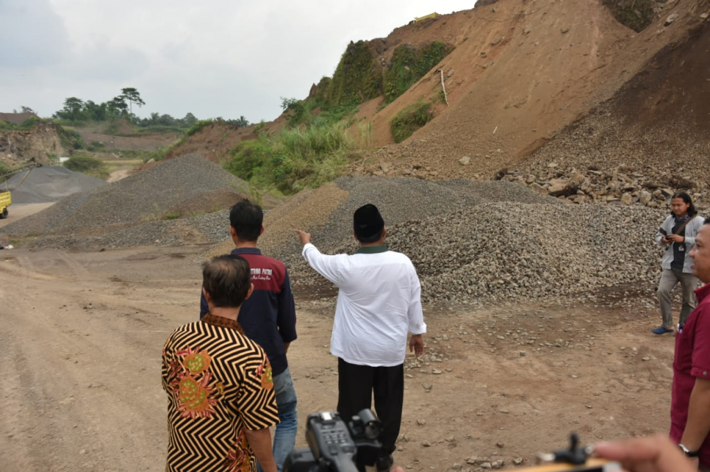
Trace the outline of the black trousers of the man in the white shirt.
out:
<instances>
[{"instance_id":1,"label":"black trousers of the man in the white shirt","mask_svg":"<svg viewBox=\"0 0 710 472\"><path fill-rule=\"evenodd\" d=\"M393 367L358 366L338 358L338 413L346 421L372 407L382 422L379 454L358 454L358 462L372 466L378 457L392 454L399 436L404 400L404 364Z\"/></svg>"}]
</instances>

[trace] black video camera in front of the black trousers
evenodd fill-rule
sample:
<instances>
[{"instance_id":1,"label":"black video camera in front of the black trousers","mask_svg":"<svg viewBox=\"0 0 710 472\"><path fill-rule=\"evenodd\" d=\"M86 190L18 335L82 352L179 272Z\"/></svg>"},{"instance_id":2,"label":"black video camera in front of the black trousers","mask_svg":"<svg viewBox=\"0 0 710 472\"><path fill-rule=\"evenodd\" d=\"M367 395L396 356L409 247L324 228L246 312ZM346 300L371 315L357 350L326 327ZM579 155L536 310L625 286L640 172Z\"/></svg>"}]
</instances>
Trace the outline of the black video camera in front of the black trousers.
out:
<instances>
[{"instance_id":1,"label":"black video camera in front of the black trousers","mask_svg":"<svg viewBox=\"0 0 710 472\"><path fill-rule=\"evenodd\" d=\"M357 472L357 454L376 454L382 444L382 424L371 410L346 423L337 412L308 415L306 441L310 449L294 449L283 472Z\"/></svg>"}]
</instances>

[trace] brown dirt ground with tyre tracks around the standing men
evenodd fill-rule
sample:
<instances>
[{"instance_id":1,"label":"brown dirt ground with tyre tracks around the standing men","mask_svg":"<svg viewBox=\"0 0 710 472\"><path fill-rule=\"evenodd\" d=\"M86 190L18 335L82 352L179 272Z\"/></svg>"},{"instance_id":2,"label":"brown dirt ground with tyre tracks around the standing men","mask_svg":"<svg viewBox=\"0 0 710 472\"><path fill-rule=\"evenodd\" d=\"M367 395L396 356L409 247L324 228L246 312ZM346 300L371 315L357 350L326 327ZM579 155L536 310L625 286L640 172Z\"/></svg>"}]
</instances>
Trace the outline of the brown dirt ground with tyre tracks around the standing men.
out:
<instances>
[{"instance_id":1,"label":"brown dirt ground with tyre tracks around the standing men","mask_svg":"<svg viewBox=\"0 0 710 472\"><path fill-rule=\"evenodd\" d=\"M163 470L160 348L197 319L205 249L0 251L3 470ZM333 300L301 295L297 309L289 358L303 446L307 413L335 407L337 362ZM655 312L427 307L425 317L428 351L406 363L395 454L410 470L477 470L466 463L477 456L527 463L572 431L583 441L667 431L673 339L648 332Z\"/></svg>"}]
</instances>

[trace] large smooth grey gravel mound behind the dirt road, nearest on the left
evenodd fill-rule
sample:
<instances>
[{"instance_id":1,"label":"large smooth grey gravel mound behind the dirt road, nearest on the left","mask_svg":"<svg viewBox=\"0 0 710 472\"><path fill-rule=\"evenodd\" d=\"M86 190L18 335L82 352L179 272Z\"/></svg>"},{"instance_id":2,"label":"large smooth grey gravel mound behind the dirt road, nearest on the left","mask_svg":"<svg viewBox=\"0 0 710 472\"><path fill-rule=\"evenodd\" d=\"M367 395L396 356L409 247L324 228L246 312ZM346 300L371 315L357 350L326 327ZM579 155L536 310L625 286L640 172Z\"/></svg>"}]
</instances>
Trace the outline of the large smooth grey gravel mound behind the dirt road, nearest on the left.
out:
<instances>
[{"instance_id":1,"label":"large smooth grey gravel mound behind the dirt road, nearest on the left","mask_svg":"<svg viewBox=\"0 0 710 472\"><path fill-rule=\"evenodd\" d=\"M190 207L196 200L209 201L212 194L223 198L224 190L233 191L236 198L237 192L249 192L249 185L200 155L190 154L111 185L71 195L1 231L13 236L99 236L148 221L160 223L156 220L180 214L182 207ZM126 238L145 239L140 233L126 234Z\"/></svg>"}]
</instances>

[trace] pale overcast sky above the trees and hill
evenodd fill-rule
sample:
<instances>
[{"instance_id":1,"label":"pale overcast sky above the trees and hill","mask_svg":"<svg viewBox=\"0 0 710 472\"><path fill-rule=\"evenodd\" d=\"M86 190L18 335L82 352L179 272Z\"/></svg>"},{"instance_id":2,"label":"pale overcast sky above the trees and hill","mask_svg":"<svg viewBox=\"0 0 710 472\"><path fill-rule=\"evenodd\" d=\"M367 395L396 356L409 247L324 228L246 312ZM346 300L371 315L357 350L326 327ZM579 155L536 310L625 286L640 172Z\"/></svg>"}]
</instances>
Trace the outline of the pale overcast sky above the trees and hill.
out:
<instances>
[{"instance_id":1,"label":"pale overcast sky above the trees and hill","mask_svg":"<svg viewBox=\"0 0 710 472\"><path fill-rule=\"evenodd\" d=\"M51 116L136 87L152 111L275 119L307 97L351 40L476 0L0 0L0 112Z\"/></svg>"}]
</instances>

